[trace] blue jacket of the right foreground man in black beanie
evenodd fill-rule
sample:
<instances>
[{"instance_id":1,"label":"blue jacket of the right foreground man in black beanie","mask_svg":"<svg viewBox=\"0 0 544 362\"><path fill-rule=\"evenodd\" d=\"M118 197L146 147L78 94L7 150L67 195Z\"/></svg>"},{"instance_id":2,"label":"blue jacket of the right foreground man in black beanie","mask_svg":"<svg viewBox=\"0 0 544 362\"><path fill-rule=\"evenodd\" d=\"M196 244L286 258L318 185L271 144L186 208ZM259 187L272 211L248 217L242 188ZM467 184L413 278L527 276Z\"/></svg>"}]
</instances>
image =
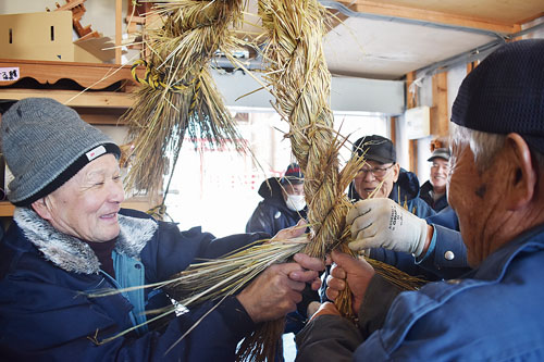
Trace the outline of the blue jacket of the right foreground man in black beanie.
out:
<instances>
[{"instance_id":1,"label":"blue jacket of the right foreground man in black beanie","mask_svg":"<svg viewBox=\"0 0 544 362\"><path fill-rule=\"evenodd\" d=\"M403 292L356 361L543 361L544 225L462 279Z\"/></svg>"}]
</instances>

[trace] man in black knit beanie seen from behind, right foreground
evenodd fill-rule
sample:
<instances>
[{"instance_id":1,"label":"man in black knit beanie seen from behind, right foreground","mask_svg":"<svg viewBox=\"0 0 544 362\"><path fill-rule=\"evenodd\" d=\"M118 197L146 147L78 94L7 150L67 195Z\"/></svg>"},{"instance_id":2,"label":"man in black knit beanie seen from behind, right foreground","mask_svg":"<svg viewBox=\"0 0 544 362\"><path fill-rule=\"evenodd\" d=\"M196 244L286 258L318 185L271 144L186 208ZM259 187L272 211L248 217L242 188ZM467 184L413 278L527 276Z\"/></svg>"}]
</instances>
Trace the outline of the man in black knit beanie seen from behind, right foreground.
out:
<instances>
[{"instance_id":1,"label":"man in black knit beanie seen from behind, right foreground","mask_svg":"<svg viewBox=\"0 0 544 362\"><path fill-rule=\"evenodd\" d=\"M359 329L325 304L297 338L298 361L542 361L543 70L544 39L506 43L454 102L448 201L474 270L398 294L333 252L327 296L347 283Z\"/></svg>"}]
</instances>

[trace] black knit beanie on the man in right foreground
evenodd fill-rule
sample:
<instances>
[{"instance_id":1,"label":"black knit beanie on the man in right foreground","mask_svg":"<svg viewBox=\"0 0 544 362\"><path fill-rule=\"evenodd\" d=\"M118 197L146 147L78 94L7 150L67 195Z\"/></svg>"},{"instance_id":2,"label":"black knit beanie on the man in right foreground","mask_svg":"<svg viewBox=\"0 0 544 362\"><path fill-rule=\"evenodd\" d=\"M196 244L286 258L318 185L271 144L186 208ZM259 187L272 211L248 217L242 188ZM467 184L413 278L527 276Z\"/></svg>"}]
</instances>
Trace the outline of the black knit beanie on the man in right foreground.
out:
<instances>
[{"instance_id":1,"label":"black knit beanie on the man in right foreground","mask_svg":"<svg viewBox=\"0 0 544 362\"><path fill-rule=\"evenodd\" d=\"M492 134L517 133L544 153L544 39L506 43L462 82L452 122Z\"/></svg>"}]
</instances>

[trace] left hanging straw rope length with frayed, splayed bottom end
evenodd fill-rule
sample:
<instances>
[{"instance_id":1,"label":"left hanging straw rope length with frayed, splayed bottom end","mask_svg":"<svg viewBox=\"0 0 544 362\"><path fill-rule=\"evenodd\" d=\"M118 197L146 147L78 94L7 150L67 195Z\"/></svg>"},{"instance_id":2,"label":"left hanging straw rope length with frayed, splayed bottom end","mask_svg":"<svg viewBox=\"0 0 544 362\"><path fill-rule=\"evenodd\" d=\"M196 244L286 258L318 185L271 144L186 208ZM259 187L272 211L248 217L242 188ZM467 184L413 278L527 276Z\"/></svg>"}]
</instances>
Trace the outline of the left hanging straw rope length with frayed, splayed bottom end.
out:
<instances>
[{"instance_id":1,"label":"left hanging straw rope length with frayed, splayed bottom end","mask_svg":"<svg viewBox=\"0 0 544 362\"><path fill-rule=\"evenodd\" d=\"M170 0L156 5L162 26L149 33L149 59L135 64L144 65L146 75L136 77L141 87L123 116L134 143L128 189L160 190L165 155L178 154L186 133L212 148L247 150L210 74L214 52L230 54L238 43L228 27L240 22L244 3Z\"/></svg>"}]
</instances>

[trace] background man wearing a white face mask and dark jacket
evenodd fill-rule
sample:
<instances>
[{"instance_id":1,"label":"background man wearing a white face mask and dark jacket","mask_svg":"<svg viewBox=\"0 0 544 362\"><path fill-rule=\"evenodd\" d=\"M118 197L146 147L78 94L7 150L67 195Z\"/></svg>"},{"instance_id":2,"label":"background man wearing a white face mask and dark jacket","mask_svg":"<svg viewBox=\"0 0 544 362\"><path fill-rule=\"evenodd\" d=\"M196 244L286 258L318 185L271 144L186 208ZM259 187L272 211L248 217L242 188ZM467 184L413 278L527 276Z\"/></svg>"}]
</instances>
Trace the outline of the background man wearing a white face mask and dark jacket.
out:
<instances>
[{"instance_id":1,"label":"background man wearing a white face mask and dark jacket","mask_svg":"<svg viewBox=\"0 0 544 362\"><path fill-rule=\"evenodd\" d=\"M247 222L246 233L275 235L306 219L304 174L298 164L289 164L283 177L271 177L263 182L259 195L263 200Z\"/></svg>"}]
</instances>

